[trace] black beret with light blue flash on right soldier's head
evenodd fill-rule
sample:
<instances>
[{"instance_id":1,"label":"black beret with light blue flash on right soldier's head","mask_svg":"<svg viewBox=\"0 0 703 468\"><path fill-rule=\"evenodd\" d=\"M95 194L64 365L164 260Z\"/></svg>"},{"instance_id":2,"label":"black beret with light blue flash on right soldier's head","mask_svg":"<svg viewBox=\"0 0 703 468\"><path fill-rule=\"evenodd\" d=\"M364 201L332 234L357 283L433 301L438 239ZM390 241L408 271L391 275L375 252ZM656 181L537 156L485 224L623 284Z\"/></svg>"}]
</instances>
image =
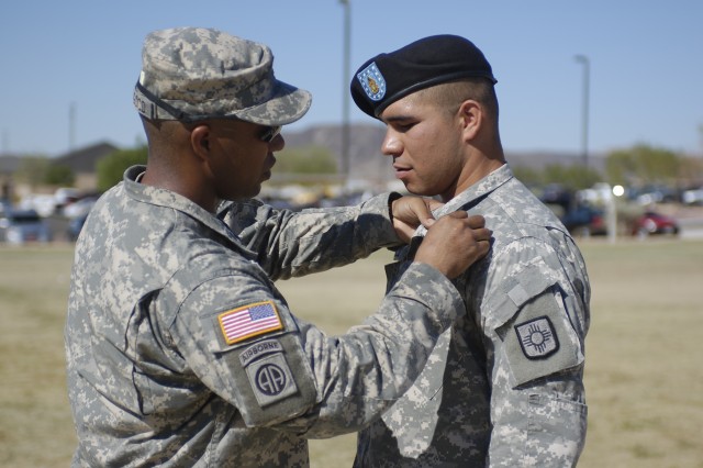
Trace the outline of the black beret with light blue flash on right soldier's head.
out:
<instances>
[{"instance_id":1,"label":"black beret with light blue flash on right soldier's head","mask_svg":"<svg viewBox=\"0 0 703 468\"><path fill-rule=\"evenodd\" d=\"M498 82L471 41L440 34L367 60L352 79L352 98L359 109L378 118L388 105L415 91L473 77Z\"/></svg>"}]
</instances>

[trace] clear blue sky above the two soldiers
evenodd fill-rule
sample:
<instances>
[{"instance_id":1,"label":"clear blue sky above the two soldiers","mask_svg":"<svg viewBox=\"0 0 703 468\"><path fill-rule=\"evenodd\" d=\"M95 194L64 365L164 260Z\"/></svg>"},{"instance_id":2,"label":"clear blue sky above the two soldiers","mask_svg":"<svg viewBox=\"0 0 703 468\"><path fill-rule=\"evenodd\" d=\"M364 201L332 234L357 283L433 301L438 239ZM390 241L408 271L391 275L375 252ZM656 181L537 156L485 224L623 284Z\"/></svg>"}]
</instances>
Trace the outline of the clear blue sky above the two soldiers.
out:
<instances>
[{"instance_id":1,"label":"clear blue sky above the two soldiers","mask_svg":"<svg viewBox=\"0 0 703 468\"><path fill-rule=\"evenodd\" d=\"M350 2L352 71L425 35L473 41L499 80L507 151L580 152L582 54L591 64L591 152L645 143L703 154L703 1ZM313 93L311 111L289 130L339 123L350 79L343 12L338 0L3 1L0 153L55 156L71 141L143 141L132 108L142 42L152 30L185 25L268 44L278 78ZM353 103L350 116L371 122Z\"/></svg>"}]
</instances>

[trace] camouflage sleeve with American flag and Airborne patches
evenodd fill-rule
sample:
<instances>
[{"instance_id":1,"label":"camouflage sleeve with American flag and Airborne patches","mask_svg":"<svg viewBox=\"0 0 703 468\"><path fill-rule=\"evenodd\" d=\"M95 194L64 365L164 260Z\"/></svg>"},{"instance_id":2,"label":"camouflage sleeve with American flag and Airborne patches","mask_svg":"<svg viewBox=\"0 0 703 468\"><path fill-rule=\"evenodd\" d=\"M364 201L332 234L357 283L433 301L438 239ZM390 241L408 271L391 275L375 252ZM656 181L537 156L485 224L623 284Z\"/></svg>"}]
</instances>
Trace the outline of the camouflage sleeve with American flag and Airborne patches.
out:
<instances>
[{"instance_id":1,"label":"camouflage sleeve with American flag and Airborne patches","mask_svg":"<svg viewBox=\"0 0 703 468\"><path fill-rule=\"evenodd\" d=\"M252 265L204 282L182 303L170 334L198 378L247 426L306 437L354 432L378 417L465 311L451 282L413 264L376 314L326 336L293 316L267 281Z\"/></svg>"}]
</instances>

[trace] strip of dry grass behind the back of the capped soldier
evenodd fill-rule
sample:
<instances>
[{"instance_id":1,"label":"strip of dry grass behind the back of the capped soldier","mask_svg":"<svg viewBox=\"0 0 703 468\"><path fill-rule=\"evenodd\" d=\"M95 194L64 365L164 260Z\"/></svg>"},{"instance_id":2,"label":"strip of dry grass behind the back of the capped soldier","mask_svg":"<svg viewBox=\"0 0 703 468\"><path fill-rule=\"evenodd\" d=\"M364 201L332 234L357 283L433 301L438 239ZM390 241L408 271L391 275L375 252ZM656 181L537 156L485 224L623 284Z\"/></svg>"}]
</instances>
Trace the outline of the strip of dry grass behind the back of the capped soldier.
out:
<instances>
[{"instance_id":1,"label":"strip of dry grass behind the back of the capped soldier","mask_svg":"<svg viewBox=\"0 0 703 468\"><path fill-rule=\"evenodd\" d=\"M71 250L0 250L0 466L65 467L75 445L64 377Z\"/></svg>"}]
</instances>

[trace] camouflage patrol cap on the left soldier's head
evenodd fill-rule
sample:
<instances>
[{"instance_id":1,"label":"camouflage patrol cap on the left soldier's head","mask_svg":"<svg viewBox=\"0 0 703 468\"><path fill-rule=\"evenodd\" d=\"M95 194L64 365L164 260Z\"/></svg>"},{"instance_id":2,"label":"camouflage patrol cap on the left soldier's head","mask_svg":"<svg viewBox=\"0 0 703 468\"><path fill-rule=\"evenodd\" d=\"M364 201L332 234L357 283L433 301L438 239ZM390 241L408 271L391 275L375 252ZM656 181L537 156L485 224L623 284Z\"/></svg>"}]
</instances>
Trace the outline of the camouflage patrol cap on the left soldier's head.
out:
<instances>
[{"instance_id":1,"label":"camouflage patrol cap on the left soldier's head","mask_svg":"<svg viewBox=\"0 0 703 468\"><path fill-rule=\"evenodd\" d=\"M272 65L266 45L214 29L155 31L144 41L134 105L150 120L284 125L308 112L312 97L276 79Z\"/></svg>"}]
</instances>

